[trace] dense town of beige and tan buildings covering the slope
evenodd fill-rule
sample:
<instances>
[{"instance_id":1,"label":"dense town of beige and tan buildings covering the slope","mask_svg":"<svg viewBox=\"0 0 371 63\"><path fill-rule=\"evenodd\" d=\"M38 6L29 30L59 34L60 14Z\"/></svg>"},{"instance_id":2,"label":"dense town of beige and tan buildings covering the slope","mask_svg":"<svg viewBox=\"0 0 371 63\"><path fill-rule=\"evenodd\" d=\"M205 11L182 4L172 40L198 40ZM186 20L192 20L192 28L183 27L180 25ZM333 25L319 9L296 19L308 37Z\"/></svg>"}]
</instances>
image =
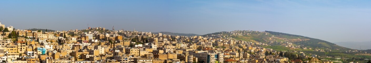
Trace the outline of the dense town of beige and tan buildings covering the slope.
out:
<instances>
[{"instance_id":1,"label":"dense town of beige and tan buildings covering the slope","mask_svg":"<svg viewBox=\"0 0 371 63\"><path fill-rule=\"evenodd\" d=\"M171 36L103 27L48 32L0 26L4 63L333 63L218 34Z\"/></svg>"}]
</instances>

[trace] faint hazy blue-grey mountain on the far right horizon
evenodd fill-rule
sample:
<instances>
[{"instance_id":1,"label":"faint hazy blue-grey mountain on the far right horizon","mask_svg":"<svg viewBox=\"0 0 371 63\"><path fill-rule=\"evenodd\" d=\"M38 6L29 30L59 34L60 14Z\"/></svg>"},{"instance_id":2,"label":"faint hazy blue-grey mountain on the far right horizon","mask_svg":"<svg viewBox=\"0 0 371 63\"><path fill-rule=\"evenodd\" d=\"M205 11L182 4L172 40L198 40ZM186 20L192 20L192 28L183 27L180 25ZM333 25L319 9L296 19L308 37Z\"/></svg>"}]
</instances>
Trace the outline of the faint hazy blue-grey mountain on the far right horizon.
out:
<instances>
[{"instance_id":1,"label":"faint hazy blue-grey mountain on the far right horizon","mask_svg":"<svg viewBox=\"0 0 371 63\"><path fill-rule=\"evenodd\" d=\"M351 49L358 49L358 50L360 48L362 50L371 49L371 45L370 45L371 42L336 42L335 44L339 46L343 46L343 47L348 47Z\"/></svg>"}]
</instances>

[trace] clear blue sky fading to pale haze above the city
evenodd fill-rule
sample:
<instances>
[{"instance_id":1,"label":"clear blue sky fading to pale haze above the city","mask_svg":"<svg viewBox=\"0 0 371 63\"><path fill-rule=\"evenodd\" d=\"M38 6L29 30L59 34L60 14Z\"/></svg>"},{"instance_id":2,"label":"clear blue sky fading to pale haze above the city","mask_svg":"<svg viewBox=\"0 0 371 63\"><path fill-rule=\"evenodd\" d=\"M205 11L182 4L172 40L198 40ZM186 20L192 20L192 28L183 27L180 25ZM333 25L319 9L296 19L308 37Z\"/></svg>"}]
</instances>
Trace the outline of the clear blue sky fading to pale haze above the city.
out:
<instances>
[{"instance_id":1,"label":"clear blue sky fading to pale haze above the city","mask_svg":"<svg viewBox=\"0 0 371 63\"><path fill-rule=\"evenodd\" d=\"M207 34L275 31L329 42L370 42L371 0L1 0L16 29L90 27Z\"/></svg>"}]
</instances>

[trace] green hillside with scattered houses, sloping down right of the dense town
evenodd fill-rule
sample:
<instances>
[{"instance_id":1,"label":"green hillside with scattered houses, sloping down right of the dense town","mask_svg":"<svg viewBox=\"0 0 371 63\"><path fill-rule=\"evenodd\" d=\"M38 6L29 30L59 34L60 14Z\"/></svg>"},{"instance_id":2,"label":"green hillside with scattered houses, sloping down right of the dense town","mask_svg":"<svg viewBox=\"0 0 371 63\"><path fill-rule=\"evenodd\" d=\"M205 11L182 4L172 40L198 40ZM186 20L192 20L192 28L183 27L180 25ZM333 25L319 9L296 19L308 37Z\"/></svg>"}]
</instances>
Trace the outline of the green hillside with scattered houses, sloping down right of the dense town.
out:
<instances>
[{"instance_id":1,"label":"green hillside with scattered houses, sloping down right of the dense town","mask_svg":"<svg viewBox=\"0 0 371 63\"><path fill-rule=\"evenodd\" d=\"M265 48L286 51L286 52L302 52L309 56L315 54L323 60L336 60L336 57L344 58L356 58L339 60L341 62L352 62L362 60L358 59L369 59L370 54L364 54L364 52L370 52L370 50L362 50L362 52L346 47L338 46L334 43L327 42L325 40L314 39L311 37L272 32L272 31L250 31L250 30L236 30L232 32L216 32L202 35L204 37L222 37L224 39L235 39L242 40L245 42L256 43L258 46ZM332 58L328 58L332 57Z\"/></svg>"}]
</instances>

